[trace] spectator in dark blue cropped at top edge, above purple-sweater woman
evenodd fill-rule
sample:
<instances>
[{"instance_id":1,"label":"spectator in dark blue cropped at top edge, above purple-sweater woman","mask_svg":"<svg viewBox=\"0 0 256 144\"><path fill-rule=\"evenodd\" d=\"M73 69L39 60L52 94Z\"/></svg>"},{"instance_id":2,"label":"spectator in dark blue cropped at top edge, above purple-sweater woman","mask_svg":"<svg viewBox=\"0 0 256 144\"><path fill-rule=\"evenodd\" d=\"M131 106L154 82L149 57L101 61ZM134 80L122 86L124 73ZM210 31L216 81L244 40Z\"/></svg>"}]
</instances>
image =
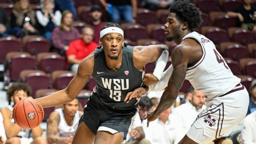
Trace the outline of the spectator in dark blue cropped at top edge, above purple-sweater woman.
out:
<instances>
[{"instance_id":1,"label":"spectator in dark blue cropped at top edge, above purple-sweater woman","mask_svg":"<svg viewBox=\"0 0 256 144\"><path fill-rule=\"evenodd\" d=\"M72 0L55 0L55 9L63 12L64 10L69 10L73 14L73 18L76 17L76 8Z\"/></svg>"}]
</instances>

